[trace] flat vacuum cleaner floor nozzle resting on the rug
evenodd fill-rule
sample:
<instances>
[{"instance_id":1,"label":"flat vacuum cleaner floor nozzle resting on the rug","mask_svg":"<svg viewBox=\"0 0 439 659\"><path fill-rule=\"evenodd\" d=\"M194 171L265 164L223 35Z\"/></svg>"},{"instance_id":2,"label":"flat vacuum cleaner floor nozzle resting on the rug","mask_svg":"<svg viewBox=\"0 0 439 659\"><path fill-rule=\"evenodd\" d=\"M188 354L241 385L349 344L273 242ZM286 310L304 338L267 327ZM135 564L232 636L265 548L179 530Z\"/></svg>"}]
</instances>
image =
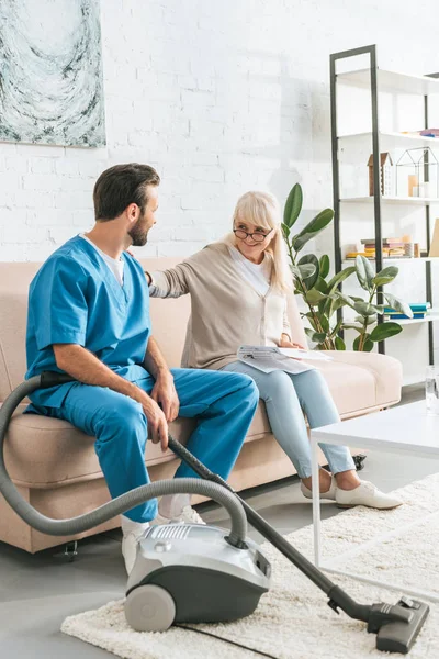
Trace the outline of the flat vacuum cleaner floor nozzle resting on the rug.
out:
<instances>
[{"instance_id":1,"label":"flat vacuum cleaner floor nozzle resting on the rug","mask_svg":"<svg viewBox=\"0 0 439 659\"><path fill-rule=\"evenodd\" d=\"M406 655L416 640L430 607L424 602L402 597L394 606L374 604L368 632L376 634L376 649Z\"/></svg>"}]
</instances>

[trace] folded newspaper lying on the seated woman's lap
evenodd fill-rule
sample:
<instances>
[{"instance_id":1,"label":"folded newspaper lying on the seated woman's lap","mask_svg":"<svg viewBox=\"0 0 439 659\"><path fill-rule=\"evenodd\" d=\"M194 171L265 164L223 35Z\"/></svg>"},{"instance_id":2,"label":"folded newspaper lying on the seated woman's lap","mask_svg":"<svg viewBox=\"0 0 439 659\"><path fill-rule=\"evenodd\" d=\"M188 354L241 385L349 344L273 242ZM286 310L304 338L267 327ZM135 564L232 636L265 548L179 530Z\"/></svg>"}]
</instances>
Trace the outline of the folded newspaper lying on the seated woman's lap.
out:
<instances>
[{"instance_id":1,"label":"folded newspaper lying on the seated woman's lap","mask_svg":"<svg viewBox=\"0 0 439 659\"><path fill-rule=\"evenodd\" d=\"M249 364L264 373L283 370L292 375L303 373L315 368L313 365L302 361L303 359L311 361L330 361L331 359L324 353L302 348L278 348L277 346L239 346L237 357L239 361Z\"/></svg>"}]
</instances>

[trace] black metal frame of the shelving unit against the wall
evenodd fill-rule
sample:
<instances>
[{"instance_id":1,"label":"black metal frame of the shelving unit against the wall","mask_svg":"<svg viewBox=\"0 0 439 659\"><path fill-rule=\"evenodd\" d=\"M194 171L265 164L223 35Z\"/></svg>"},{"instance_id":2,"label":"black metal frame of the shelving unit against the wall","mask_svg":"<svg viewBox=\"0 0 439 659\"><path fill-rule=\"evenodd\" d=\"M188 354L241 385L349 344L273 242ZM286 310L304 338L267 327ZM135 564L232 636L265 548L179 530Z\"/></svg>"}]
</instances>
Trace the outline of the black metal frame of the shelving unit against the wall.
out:
<instances>
[{"instance_id":1,"label":"black metal frame of the shelving unit against the wall","mask_svg":"<svg viewBox=\"0 0 439 659\"><path fill-rule=\"evenodd\" d=\"M353 48L330 55L330 127L331 127L331 159L333 159L333 198L334 198L334 247L335 247L335 270L339 272L342 269L341 255L341 205L340 199L340 166L339 166L339 136L337 134L337 63L341 59L357 57L359 55L369 55L370 67L370 92L371 92L371 123L372 123L372 154L373 154L373 219L374 219L374 238L375 238L375 268L379 272L383 268L383 249L382 249L382 194L380 185L380 126L379 126L379 67L376 60L376 46L364 46ZM439 74L428 74L426 77L439 78ZM425 127L430 127L428 116L428 94L424 94L424 123ZM435 141L432 141L435 142ZM439 139L438 139L439 144ZM425 180L428 180L428 163L425 163ZM427 249L430 249L430 206L425 205L425 222ZM426 260L426 299L432 306L432 287L431 287L431 263ZM341 288L341 287L340 287ZM379 289L381 292L381 289ZM341 319L342 310L338 310L338 320ZM378 319L382 323L382 316ZM434 357L434 327L432 322L428 322L428 354L429 364L435 362ZM379 343L379 353L385 354L385 342Z\"/></svg>"}]
</instances>

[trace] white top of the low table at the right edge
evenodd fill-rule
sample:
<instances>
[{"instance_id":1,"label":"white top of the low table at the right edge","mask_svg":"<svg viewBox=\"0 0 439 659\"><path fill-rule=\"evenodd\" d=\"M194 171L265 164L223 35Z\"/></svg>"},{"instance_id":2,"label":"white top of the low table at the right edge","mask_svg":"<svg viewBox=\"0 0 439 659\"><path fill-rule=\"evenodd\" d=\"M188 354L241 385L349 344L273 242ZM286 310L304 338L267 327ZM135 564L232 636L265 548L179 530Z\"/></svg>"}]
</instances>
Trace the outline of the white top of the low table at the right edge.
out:
<instances>
[{"instance_id":1,"label":"white top of the low table at the right edge","mask_svg":"<svg viewBox=\"0 0 439 659\"><path fill-rule=\"evenodd\" d=\"M318 443L383 451L406 450L439 458L439 416L429 416L423 400L315 428L311 438Z\"/></svg>"}]
</instances>

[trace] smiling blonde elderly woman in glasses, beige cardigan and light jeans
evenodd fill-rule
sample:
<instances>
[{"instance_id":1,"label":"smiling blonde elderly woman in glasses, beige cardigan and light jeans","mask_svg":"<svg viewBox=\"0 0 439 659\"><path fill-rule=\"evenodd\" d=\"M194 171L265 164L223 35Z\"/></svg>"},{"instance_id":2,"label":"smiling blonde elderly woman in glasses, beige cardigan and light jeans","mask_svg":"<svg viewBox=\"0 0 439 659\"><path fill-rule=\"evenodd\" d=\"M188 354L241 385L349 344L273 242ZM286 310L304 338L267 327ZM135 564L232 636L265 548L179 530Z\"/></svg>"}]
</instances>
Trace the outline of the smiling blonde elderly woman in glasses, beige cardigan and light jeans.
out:
<instances>
[{"instance_id":1,"label":"smiling blonde elderly woman in glasses, beige cardigan and light jeans","mask_svg":"<svg viewBox=\"0 0 439 659\"><path fill-rule=\"evenodd\" d=\"M286 316L292 282L275 199L266 192L247 192L238 200L229 235L176 268L146 276L151 297L191 295L183 367L254 378L271 429L301 478L302 493L309 499L311 447L303 413L312 428L339 421L324 377L316 369L299 375L282 370L266 373L236 356L241 344L301 347ZM322 449L329 465L329 471L319 472L322 498L336 501L340 507L401 505L398 498L358 478L347 447L323 444Z\"/></svg>"}]
</instances>

